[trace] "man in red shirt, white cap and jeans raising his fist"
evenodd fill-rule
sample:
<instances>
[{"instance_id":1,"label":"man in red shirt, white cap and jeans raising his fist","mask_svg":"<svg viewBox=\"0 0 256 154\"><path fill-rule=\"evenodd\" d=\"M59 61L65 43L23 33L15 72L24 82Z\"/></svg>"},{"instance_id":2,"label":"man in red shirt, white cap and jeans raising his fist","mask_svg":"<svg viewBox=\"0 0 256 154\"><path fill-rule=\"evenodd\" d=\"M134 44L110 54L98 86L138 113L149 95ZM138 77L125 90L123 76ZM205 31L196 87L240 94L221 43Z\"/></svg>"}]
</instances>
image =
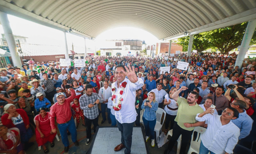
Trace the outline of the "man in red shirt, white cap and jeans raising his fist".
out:
<instances>
[{"instance_id":1,"label":"man in red shirt, white cap and jeans raising his fist","mask_svg":"<svg viewBox=\"0 0 256 154\"><path fill-rule=\"evenodd\" d=\"M74 142L75 146L78 146L79 143L76 140L76 126L75 121L72 118L71 107L70 103L75 98L75 90L69 88L71 91L71 96L69 98L65 98L63 93L59 92L56 95L57 103L55 103L50 110L50 123L52 127L52 132L56 132L56 126L54 122L54 117L56 117L59 132L61 135L62 143L64 144L65 148L64 151L68 152L69 150L69 141L68 141L68 134L67 130L69 130L72 141Z\"/></svg>"}]
</instances>

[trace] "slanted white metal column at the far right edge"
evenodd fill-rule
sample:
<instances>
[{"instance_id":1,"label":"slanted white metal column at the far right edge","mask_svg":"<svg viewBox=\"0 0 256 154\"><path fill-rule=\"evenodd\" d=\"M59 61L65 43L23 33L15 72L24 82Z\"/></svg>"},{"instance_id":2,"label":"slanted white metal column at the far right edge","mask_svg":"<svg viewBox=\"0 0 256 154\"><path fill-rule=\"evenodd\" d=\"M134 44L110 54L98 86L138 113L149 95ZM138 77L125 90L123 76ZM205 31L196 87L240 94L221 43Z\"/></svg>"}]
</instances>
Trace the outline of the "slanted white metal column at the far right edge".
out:
<instances>
[{"instance_id":1,"label":"slanted white metal column at the far right edge","mask_svg":"<svg viewBox=\"0 0 256 154\"><path fill-rule=\"evenodd\" d=\"M241 43L240 50L239 50L239 53L238 53L238 56L237 56L237 59L236 59L235 66L239 66L239 68L242 68L242 65L243 65L243 62L244 62L244 59L245 59L245 54L248 51L249 44L251 42L251 38L252 38L252 35L255 31L255 28L256 28L256 19L249 21L248 24L247 24L247 27L245 29L244 38L243 38L243 41Z\"/></svg>"}]
</instances>

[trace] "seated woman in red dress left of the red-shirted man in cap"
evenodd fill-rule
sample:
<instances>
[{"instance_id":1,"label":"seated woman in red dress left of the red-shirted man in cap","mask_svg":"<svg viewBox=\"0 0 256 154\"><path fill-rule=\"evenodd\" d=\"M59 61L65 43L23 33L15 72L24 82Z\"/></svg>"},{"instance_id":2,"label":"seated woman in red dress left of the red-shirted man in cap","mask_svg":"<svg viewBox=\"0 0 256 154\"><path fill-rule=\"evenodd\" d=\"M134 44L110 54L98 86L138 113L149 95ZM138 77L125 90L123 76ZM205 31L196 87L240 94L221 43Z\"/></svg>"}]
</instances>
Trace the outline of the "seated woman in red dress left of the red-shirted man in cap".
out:
<instances>
[{"instance_id":1,"label":"seated woman in red dress left of the red-shirted man in cap","mask_svg":"<svg viewBox=\"0 0 256 154\"><path fill-rule=\"evenodd\" d=\"M45 144L47 142L51 143L51 147L54 146L54 138L56 133L52 132L52 128L50 125L50 116L49 112L46 112L46 108L40 108L39 114L35 116L35 137L37 146L42 146L44 149L44 153L48 153L49 150L46 148Z\"/></svg>"}]
</instances>

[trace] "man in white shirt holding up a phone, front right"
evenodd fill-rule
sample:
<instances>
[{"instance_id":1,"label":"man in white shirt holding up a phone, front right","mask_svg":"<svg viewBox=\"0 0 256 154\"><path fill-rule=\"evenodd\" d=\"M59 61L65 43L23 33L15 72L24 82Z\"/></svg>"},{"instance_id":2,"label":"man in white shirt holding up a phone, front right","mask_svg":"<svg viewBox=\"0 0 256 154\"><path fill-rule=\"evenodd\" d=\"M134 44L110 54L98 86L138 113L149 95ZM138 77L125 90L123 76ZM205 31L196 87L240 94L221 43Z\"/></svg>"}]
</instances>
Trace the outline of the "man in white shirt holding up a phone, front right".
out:
<instances>
[{"instance_id":1,"label":"man in white shirt holding up a phone, front right","mask_svg":"<svg viewBox=\"0 0 256 154\"><path fill-rule=\"evenodd\" d=\"M239 112L233 107L227 107L222 115L214 114L213 108L198 113L196 120L208 122L206 131L201 136L199 154L230 154L238 142L240 129L231 122L239 117Z\"/></svg>"}]
</instances>

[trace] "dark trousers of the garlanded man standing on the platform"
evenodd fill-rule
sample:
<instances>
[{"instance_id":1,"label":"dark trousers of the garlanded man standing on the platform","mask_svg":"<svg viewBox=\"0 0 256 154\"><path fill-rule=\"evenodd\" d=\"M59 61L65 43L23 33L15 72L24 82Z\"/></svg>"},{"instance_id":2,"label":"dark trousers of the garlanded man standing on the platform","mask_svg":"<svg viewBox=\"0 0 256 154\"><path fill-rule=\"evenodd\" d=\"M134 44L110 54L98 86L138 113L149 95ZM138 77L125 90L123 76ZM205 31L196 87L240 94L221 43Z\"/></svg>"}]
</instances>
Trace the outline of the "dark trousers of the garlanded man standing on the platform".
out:
<instances>
[{"instance_id":1,"label":"dark trousers of the garlanded man standing on the platform","mask_svg":"<svg viewBox=\"0 0 256 154\"><path fill-rule=\"evenodd\" d=\"M121 143L125 146L125 154L131 153L133 125L134 123L121 124L117 121L118 130L121 132Z\"/></svg>"}]
</instances>

